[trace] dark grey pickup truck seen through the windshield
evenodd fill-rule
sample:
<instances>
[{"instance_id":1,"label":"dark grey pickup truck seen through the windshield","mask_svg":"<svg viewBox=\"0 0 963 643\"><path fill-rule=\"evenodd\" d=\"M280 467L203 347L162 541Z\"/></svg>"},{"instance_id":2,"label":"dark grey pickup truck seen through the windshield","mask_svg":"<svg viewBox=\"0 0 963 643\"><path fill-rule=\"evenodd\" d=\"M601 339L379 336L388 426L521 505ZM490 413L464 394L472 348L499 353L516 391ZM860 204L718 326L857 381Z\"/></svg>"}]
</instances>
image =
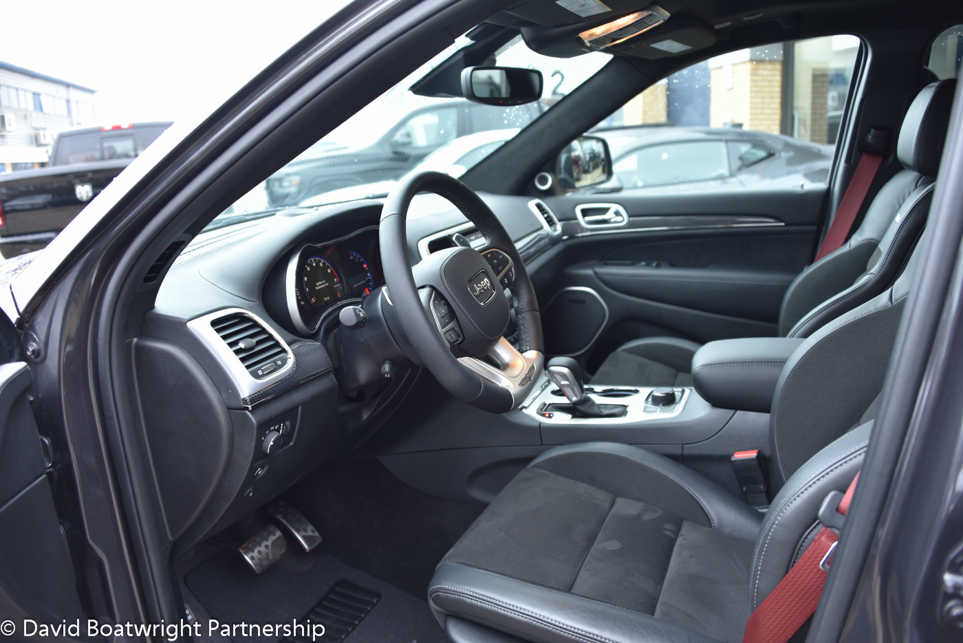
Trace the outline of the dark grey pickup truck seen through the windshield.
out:
<instances>
[{"instance_id":1,"label":"dark grey pickup truck seen through the windshield","mask_svg":"<svg viewBox=\"0 0 963 643\"><path fill-rule=\"evenodd\" d=\"M268 200L272 205L291 205L331 190L397 179L448 141L476 132L524 127L541 112L539 102L508 109L468 101L421 107L368 147L308 150L268 179Z\"/></svg>"}]
</instances>

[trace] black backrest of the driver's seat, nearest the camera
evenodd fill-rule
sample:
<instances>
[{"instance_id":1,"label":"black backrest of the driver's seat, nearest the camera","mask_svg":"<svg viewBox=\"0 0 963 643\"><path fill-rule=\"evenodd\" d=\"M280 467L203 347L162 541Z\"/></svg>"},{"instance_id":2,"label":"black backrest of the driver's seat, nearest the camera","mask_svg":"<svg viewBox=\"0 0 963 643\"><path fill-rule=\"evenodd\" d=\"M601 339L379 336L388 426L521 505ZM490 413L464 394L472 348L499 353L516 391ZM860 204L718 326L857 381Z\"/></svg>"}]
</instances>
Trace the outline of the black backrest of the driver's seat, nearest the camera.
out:
<instances>
[{"instance_id":1,"label":"black backrest of the driver's seat, nearest the camera","mask_svg":"<svg viewBox=\"0 0 963 643\"><path fill-rule=\"evenodd\" d=\"M783 368L769 417L770 479L779 491L756 539L751 609L766 599L816 537L825 497L845 492L862 467L925 245L924 235L891 288L817 330Z\"/></svg>"}]
</instances>

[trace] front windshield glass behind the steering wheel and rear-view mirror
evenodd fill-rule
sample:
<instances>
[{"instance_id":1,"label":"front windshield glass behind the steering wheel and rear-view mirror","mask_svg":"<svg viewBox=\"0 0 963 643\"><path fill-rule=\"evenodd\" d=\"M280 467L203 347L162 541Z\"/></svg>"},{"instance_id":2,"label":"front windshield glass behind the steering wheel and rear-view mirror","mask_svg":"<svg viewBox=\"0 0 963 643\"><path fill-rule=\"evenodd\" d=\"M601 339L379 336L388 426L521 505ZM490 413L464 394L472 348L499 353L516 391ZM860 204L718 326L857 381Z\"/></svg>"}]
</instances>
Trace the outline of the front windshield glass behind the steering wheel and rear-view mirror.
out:
<instances>
[{"instance_id":1,"label":"front windshield glass behind the steering wheel and rear-view mirror","mask_svg":"<svg viewBox=\"0 0 963 643\"><path fill-rule=\"evenodd\" d=\"M542 97L534 103L494 107L464 98L419 96L410 90L432 68L471 43L465 37L457 39L238 199L208 227L267 216L282 208L381 196L408 172L431 169L461 176L611 58L598 52L567 59L541 56L517 37L496 52L496 64L542 72Z\"/></svg>"}]
</instances>

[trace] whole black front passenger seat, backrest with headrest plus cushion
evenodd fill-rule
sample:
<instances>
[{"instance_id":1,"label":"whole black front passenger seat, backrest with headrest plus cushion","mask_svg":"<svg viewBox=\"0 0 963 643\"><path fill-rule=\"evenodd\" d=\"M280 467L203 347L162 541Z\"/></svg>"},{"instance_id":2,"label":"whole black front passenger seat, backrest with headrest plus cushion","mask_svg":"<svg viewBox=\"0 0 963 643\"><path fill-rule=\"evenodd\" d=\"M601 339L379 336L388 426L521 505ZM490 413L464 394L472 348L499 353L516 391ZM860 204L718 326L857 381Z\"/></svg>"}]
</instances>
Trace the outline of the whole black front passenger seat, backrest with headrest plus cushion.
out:
<instances>
[{"instance_id":1,"label":"whole black front passenger seat, backrest with headrest plus cushion","mask_svg":"<svg viewBox=\"0 0 963 643\"><path fill-rule=\"evenodd\" d=\"M809 337L829 321L890 287L924 228L935 189L955 79L930 83L914 99L899 130L896 176L875 195L846 244L796 276L783 297L779 336ZM592 376L621 386L690 386L699 344L645 337L622 345Z\"/></svg>"}]
</instances>

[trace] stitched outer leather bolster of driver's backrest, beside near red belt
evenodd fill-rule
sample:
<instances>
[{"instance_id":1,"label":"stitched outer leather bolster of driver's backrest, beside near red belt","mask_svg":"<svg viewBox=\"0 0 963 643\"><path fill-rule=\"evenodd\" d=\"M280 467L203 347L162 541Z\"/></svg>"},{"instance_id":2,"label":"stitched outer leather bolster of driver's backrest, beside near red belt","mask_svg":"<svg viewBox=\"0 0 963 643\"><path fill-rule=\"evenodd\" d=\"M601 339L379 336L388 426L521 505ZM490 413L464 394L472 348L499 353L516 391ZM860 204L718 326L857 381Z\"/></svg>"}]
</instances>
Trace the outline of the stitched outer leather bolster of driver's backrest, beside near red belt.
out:
<instances>
[{"instance_id":1,"label":"stitched outer leather bolster of driver's backrest, beside near red belt","mask_svg":"<svg viewBox=\"0 0 963 643\"><path fill-rule=\"evenodd\" d=\"M789 479L766 512L756 541L750 608L761 604L793 566L800 543L811 538L820 505L831 491L846 491L863 466L872 422L820 450Z\"/></svg>"}]
</instances>

